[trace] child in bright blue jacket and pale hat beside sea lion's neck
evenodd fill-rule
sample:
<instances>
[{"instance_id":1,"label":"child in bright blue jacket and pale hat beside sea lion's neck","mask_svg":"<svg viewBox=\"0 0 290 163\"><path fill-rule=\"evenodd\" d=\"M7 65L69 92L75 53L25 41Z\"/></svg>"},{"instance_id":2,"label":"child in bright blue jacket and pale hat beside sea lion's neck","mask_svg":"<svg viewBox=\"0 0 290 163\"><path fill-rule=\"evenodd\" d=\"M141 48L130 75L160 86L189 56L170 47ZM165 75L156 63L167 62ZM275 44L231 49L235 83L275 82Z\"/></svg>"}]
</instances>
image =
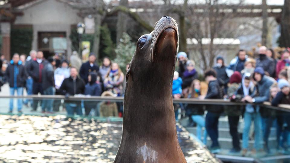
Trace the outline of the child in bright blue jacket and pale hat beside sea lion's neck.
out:
<instances>
[{"instance_id":1,"label":"child in bright blue jacket and pale hat beside sea lion's neck","mask_svg":"<svg viewBox=\"0 0 290 163\"><path fill-rule=\"evenodd\" d=\"M180 99L182 89L182 79L178 77L179 73L177 71L174 72L173 76L173 82L172 82L172 95L173 99ZM178 110L180 107L180 104L173 104L174 107L174 113L175 113L175 120L178 121Z\"/></svg>"}]
</instances>

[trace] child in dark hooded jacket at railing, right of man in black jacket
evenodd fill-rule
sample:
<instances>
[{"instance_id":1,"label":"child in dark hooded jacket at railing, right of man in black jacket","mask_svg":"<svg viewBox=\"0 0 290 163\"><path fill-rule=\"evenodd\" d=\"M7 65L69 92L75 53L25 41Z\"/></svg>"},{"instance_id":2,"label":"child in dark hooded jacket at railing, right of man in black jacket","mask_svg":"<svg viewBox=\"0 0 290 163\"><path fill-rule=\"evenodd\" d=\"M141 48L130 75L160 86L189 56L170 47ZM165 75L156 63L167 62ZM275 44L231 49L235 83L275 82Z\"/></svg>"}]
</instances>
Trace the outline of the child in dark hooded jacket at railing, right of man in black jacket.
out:
<instances>
[{"instance_id":1,"label":"child in dark hooded jacket at railing, right of man in black jacket","mask_svg":"<svg viewBox=\"0 0 290 163\"><path fill-rule=\"evenodd\" d=\"M97 73L91 72L88 76L88 83L85 85L85 95L88 96L100 96L101 86L96 83ZM98 102L84 101L85 115L88 116L92 109L96 109Z\"/></svg>"}]
</instances>

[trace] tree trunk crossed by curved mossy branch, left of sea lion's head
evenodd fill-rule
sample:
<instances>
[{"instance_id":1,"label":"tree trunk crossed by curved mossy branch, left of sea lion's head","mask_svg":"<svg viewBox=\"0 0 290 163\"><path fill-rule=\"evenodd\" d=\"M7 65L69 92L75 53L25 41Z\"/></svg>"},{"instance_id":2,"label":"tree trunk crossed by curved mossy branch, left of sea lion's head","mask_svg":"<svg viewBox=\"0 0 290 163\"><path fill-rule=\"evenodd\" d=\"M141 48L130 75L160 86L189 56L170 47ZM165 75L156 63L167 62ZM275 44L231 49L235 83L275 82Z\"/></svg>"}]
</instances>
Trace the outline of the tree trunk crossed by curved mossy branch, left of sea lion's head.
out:
<instances>
[{"instance_id":1,"label":"tree trunk crossed by curved mossy branch, left of sea lion's head","mask_svg":"<svg viewBox=\"0 0 290 163\"><path fill-rule=\"evenodd\" d=\"M128 0L120 0L120 5L127 6ZM116 36L116 44L120 43L120 39L124 32L127 31L127 15L121 11L118 11L118 22L117 22L117 36Z\"/></svg>"}]
</instances>

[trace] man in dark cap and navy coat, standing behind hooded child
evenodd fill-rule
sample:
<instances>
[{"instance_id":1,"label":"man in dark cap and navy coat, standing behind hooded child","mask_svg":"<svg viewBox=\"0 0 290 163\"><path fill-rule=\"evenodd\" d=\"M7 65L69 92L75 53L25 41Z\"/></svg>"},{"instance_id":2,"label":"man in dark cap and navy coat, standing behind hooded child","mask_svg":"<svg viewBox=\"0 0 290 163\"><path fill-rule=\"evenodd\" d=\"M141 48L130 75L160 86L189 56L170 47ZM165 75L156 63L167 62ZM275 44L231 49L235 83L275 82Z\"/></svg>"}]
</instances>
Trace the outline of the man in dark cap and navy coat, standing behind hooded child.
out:
<instances>
[{"instance_id":1,"label":"man in dark cap and navy coat, standing behind hooded child","mask_svg":"<svg viewBox=\"0 0 290 163\"><path fill-rule=\"evenodd\" d=\"M89 61L82 64L79 75L85 81L85 84L88 83L88 76L90 72L97 73L99 71L99 66L95 63L96 56L95 53L90 53Z\"/></svg>"}]
</instances>

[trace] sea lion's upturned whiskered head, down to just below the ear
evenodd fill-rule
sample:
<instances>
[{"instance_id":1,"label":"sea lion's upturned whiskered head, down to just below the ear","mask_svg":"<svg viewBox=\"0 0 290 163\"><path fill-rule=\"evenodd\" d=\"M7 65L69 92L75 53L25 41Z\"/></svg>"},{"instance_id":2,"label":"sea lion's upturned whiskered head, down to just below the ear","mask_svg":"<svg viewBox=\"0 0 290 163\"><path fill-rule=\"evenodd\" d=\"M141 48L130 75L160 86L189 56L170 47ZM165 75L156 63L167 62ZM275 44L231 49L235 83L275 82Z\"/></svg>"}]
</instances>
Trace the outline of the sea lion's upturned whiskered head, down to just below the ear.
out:
<instances>
[{"instance_id":1,"label":"sea lion's upturned whiskered head, down to just below the ear","mask_svg":"<svg viewBox=\"0 0 290 163\"><path fill-rule=\"evenodd\" d=\"M163 16L150 34L144 34L138 39L126 80L140 83L148 80L153 82L153 78L159 78L172 82L178 40L176 21Z\"/></svg>"}]
</instances>

